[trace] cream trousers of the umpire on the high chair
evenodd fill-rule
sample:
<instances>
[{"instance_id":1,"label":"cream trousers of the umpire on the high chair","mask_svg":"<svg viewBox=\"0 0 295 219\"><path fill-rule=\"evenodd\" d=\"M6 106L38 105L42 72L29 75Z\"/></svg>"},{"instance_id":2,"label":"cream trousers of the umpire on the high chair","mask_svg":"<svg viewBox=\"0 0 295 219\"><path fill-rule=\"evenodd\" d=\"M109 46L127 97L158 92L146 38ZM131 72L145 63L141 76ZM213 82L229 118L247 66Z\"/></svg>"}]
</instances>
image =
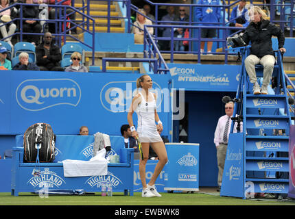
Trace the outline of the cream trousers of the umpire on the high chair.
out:
<instances>
[{"instance_id":1,"label":"cream trousers of the umpire on the high chair","mask_svg":"<svg viewBox=\"0 0 295 219\"><path fill-rule=\"evenodd\" d=\"M256 55L248 55L245 60L245 67L249 75L250 82L255 83L257 81L255 64L262 64L263 86L268 86L268 84L270 83L270 78L272 77L275 63L276 59L274 55L264 55L263 57L261 57L261 59L259 59L259 57L257 57Z\"/></svg>"}]
</instances>

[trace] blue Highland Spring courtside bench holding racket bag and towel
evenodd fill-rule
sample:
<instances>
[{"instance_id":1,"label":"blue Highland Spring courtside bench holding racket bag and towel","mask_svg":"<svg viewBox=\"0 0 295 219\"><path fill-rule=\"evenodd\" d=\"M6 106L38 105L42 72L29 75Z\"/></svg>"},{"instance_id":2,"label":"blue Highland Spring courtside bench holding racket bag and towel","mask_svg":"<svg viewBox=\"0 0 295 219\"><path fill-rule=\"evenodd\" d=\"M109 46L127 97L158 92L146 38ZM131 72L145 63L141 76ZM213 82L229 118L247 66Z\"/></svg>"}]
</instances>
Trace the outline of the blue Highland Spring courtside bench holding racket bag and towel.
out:
<instances>
[{"instance_id":1,"label":"blue Highland Spring courtside bench holding racket bag and towel","mask_svg":"<svg viewBox=\"0 0 295 219\"><path fill-rule=\"evenodd\" d=\"M110 136L110 155L119 155L120 163L108 164L108 175L89 177L64 177L62 161L65 159L89 160L93 156L94 136L56 135L56 157L52 163L24 163L23 135L16 136L12 150L11 193L48 190L84 190L101 192L102 183L111 183L113 192L133 196L134 149L126 149L122 136ZM34 177L34 169L40 175Z\"/></svg>"}]
</instances>

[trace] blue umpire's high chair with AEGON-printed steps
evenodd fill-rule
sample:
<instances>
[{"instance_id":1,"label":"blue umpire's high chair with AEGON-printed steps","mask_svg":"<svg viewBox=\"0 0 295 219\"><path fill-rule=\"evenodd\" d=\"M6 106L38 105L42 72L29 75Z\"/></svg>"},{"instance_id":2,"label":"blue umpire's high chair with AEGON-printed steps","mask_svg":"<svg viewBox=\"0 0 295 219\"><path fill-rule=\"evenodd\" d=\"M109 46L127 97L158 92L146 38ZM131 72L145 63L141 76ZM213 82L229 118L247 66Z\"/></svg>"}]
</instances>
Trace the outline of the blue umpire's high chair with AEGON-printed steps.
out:
<instances>
[{"instance_id":1,"label":"blue umpire's high chair with AEGON-printed steps","mask_svg":"<svg viewBox=\"0 0 295 219\"><path fill-rule=\"evenodd\" d=\"M257 193L286 194L292 120L281 53L276 51L272 75L277 77L276 88L268 86L268 95L254 95L244 66L248 47L235 50L242 54L242 68L234 109L234 115L239 116L233 123L242 121L243 130L233 133L231 126L220 195L248 198ZM261 83L263 66L255 68Z\"/></svg>"}]
</instances>

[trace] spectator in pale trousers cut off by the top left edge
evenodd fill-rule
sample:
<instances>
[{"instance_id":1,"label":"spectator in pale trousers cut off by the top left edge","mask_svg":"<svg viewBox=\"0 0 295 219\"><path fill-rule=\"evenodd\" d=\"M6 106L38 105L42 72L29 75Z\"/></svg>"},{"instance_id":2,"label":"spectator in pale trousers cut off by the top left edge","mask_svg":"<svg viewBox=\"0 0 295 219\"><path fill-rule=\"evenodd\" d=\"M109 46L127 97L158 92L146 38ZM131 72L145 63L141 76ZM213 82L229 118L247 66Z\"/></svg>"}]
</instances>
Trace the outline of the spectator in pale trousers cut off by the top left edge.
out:
<instances>
[{"instance_id":1,"label":"spectator in pale trousers cut off by the top left edge","mask_svg":"<svg viewBox=\"0 0 295 219\"><path fill-rule=\"evenodd\" d=\"M8 8L9 6L10 5L8 3L8 0L1 0L0 10L4 10L5 8ZM1 16L0 26L12 21L10 15L11 15L10 8L0 13L0 16ZM14 23L9 23L8 25L3 25L0 27L2 37L5 38L4 41L8 42L12 48L13 48L13 45L12 45L11 39L12 39L12 34L14 34L15 30L16 30L16 25Z\"/></svg>"}]
</instances>

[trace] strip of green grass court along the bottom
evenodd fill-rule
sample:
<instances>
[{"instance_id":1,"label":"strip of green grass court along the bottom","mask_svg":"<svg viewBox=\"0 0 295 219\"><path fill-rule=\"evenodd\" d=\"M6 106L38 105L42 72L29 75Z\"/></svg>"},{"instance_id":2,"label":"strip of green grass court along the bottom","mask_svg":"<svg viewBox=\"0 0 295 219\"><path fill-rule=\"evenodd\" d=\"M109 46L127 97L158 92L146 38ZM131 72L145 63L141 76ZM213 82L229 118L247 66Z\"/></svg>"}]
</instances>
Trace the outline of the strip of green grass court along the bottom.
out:
<instances>
[{"instance_id":1,"label":"strip of green grass court along the bottom","mask_svg":"<svg viewBox=\"0 0 295 219\"><path fill-rule=\"evenodd\" d=\"M134 196L123 196L121 192L114 192L112 197L95 195L49 195L40 198L38 194L26 192L19 196L12 196L8 192L0 193L0 205L295 205L295 201L277 199L241 199L235 197L221 197L218 194L206 193L161 193L162 197L142 198L141 192L134 192Z\"/></svg>"}]
</instances>

